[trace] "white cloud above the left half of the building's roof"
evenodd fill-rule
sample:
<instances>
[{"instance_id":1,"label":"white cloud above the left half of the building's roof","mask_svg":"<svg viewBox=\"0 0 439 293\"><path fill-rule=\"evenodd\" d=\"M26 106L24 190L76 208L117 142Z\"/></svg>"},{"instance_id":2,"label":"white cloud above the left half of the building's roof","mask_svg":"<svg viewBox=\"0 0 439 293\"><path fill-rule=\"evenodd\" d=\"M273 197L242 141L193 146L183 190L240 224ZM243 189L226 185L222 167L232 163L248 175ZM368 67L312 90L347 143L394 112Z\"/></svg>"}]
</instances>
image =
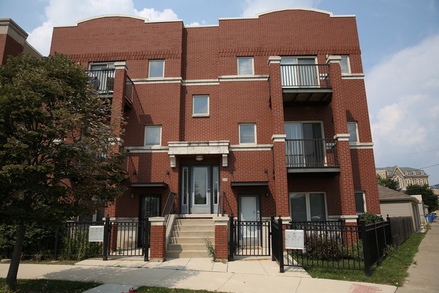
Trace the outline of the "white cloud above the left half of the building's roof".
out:
<instances>
[{"instance_id":1,"label":"white cloud above the left half of the building's roof","mask_svg":"<svg viewBox=\"0 0 439 293\"><path fill-rule=\"evenodd\" d=\"M132 0L49 0L45 8L46 21L29 33L27 41L41 54L49 54L54 25L69 25L91 16L102 14L132 14L150 21L178 19L174 11L163 12L152 8L139 11Z\"/></svg>"}]
</instances>

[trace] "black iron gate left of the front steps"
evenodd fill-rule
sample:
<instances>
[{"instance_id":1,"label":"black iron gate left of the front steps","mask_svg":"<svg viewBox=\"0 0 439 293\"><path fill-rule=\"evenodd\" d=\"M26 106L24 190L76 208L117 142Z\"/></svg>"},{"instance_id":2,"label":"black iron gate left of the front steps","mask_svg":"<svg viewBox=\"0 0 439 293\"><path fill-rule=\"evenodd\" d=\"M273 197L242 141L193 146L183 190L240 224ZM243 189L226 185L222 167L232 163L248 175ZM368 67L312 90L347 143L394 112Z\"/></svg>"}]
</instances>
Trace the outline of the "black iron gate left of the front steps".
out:
<instances>
[{"instance_id":1,"label":"black iron gate left of the front steps","mask_svg":"<svg viewBox=\"0 0 439 293\"><path fill-rule=\"evenodd\" d=\"M108 256L145 257L149 260L148 248L150 237L150 222L110 222L106 218L104 233L104 260Z\"/></svg>"}]
</instances>

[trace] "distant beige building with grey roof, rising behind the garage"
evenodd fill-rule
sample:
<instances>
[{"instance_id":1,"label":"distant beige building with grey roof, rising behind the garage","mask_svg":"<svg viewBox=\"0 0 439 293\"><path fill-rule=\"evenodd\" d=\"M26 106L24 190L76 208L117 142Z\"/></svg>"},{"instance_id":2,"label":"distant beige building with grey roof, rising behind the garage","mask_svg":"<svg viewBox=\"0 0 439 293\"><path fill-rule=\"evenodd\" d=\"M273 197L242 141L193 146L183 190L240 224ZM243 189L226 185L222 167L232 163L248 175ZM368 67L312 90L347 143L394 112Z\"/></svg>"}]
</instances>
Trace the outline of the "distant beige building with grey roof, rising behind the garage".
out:
<instances>
[{"instance_id":1,"label":"distant beige building with grey roof, rising behind the garage","mask_svg":"<svg viewBox=\"0 0 439 293\"><path fill-rule=\"evenodd\" d=\"M408 185L429 185L428 174L421 169L394 166L377 167L375 171L382 178L395 180L402 190L405 190Z\"/></svg>"}]
</instances>

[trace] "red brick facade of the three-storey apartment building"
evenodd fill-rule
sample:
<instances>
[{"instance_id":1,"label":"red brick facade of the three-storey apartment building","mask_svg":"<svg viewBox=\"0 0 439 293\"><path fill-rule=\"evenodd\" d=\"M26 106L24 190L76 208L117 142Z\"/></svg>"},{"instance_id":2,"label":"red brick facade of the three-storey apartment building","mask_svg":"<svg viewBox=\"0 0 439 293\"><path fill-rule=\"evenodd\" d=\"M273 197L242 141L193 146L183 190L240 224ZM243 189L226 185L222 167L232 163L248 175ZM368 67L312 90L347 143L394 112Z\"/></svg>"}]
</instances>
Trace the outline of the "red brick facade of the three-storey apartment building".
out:
<instances>
[{"instance_id":1,"label":"red brick facade of the three-storey apartment building","mask_svg":"<svg viewBox=\"0 0 439 293\"><path fill-rule=\"evenodd\" d=\"M240 195L252 194L261 217L288 218L289 194L317 192L325 195L327 218L354 221L354 191L366 195L367 211L380 212L355 16L278 10L257 18L220 19L219 25L200 27L185 27L182 21L104 16L55 27L54 52L69 54L86 69L93 62L126 64L126 69L116 69L113 114L126 119L121 124L121 147L130 151L128 186L145 185L128 188L107 209L112 217L138 218L141 196L148 194L161 196L163 210L170 191L177 194L180 213L186 209L182 207L182 169L188 167L190 173L193 166L219 167L218 191L224 195L219 209L229 215L239 215ZM253 58L254 74L237 75L237 58L242 56ZM327 65L330 102L286 102L281 84L285 56L315 58L316 64ZM350 73L341 73L340 56L348 56ZM163 78L148 78L150 60L164 60ZM127 76L134 82L136 95L132 107L123 108ZM209 95L208 116L193 116L193 95ZM335 172L287 168L286 121L318 122L322 138L335 138ZM357 143L348 141L348 121L357 123ZM239 144L239 124L245 123L256 125L254 145ZM148 148L144 146L145 126L152 125L161 126L161 145ZM215 141L226 141L227 151L169 146L171 142ZM195 160L198 155L203 156L202 161ZM147 183L165 184L150 187ZM209 184L213 188L213 180ZM206 213L213 214L215 209Z\"/></svg>"}]
</instances>

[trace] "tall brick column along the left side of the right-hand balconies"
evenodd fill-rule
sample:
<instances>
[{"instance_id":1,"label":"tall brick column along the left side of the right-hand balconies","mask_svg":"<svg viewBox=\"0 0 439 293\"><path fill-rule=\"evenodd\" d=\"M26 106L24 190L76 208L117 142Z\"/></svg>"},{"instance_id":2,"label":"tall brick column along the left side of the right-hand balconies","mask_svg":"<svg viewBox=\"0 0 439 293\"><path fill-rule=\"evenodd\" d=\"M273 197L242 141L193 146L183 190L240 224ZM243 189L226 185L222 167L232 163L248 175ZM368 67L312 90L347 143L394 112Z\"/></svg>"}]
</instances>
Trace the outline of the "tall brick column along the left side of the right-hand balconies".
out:
<instances>
[{"instance_id":1,"label":"tall brick column along the left side of the right-hand balconies","mask_svg":"<svg viewBox=\"0 0 439 293\"><path fill-rule=\"evenodd\" d=\"M289 216L287 159L285 156L285 129L283 117L283 93L281 83L281 57L268 58L270 65L270 100L273 118L274 201L276 215Z\"/></svg>"}]
</instances>

